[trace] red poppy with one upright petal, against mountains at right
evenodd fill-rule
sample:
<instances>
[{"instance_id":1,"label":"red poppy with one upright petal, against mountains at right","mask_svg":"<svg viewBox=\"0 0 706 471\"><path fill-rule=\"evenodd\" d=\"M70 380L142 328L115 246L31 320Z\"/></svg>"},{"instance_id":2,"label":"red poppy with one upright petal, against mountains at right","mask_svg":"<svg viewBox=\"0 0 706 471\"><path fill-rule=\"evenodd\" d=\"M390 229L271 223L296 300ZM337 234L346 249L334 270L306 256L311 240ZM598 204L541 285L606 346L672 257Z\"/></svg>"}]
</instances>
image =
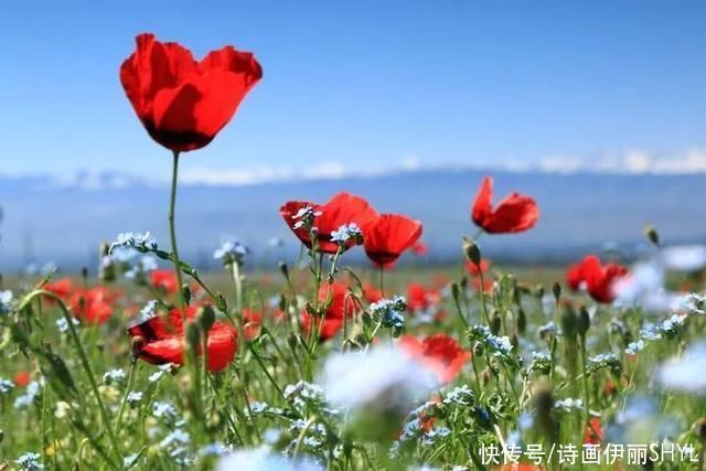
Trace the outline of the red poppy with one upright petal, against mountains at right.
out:
<instances>
[{"instance_id":1,"label":"red poppy with one upright petal, against mountains at right","mask_svg":"<svg viewBox=\"0 0 706 471\"><path fill-rule=\"evenodd\" d=\"M473 203L473 222L489 234L520 233L532 228L539 217L537 203L512 193L493 211L493 179L485 176Z\"/></svg>"}]
</instances>

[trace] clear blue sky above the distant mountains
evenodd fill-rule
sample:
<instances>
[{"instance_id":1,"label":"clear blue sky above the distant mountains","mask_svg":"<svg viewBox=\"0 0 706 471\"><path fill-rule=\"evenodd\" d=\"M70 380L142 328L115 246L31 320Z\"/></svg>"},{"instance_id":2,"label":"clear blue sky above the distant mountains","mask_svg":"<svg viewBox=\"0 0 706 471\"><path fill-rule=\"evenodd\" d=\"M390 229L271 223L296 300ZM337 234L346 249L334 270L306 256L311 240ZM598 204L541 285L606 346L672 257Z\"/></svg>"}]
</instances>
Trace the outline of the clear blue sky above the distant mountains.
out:
<instances>
[{"instance_id":1,"label":"clear blue sky above the distant mountains","mask_svg":"<svg viewBox=\"0 0 706 471\"><path fill-rule=\"evenodd\" d=\"M264 67L186 174L682 156L706 147L705 25L703 1L3 2L0 173L165 179L118 79L146 31Z\"/></svg>"}]
</instances>

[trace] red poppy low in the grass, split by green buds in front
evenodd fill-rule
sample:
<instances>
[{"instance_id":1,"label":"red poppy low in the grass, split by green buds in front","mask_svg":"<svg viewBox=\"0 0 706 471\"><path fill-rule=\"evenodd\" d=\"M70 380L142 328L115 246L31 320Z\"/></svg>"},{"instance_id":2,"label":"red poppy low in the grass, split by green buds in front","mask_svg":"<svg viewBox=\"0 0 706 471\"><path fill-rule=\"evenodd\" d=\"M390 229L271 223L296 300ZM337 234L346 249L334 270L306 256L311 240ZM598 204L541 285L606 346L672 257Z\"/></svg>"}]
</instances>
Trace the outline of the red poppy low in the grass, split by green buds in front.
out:
<instances>
[{"instance_id":1,"label":"red poppy low in the grass, split by green buds in front","mask_svg":"<svg viewBox=\"0 0 706 471\"><path fill-rule=\"evenodd\" d=\"M197 309L189 306L184 313L188 322L194 322ZM184 351L186 339L182 312L172 309L167 314L153 317L140 324L128 329L132 339L137 342L136 354L143 361L153 365L164 363L184 364ZM208 354L208 370L218 372L233 361L237 349L237 332L232 325L215 321L208 330L206 350Z\"/></svg>"}]
</instances>

